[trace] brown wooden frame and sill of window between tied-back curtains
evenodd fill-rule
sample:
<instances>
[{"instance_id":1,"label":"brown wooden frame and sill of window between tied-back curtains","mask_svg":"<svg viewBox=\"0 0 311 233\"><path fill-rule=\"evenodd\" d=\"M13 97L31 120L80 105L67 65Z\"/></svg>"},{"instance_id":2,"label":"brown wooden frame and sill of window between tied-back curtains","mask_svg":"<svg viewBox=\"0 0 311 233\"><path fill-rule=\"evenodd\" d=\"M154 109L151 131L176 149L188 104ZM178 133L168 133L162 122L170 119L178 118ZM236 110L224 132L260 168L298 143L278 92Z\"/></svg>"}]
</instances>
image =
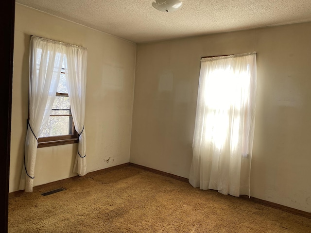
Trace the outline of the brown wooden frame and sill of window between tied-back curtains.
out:
<instances>
[{"instance_id":1,"label":"brown wooden frame and sill of window between tied-back curtains","mask_svg":"<svg viewBox=\"0 0 311 233\"><path fill-rule=\"evenodd\" d=\"M63 71L61 73L65 74L65 72L63 72ZM69 97L68 93L59 93L59 92L56 92L56 96ZM52 116L52 115L50 115L50 116ZM58 115L58 116L62 116L62 115ZM37 148L79 143L79 133L74 128L73 119L72 119L72 131L71 132L73 132L73 133L72 134L66 134L66 135L59 135L59 136L38 137L38 147Z\"/></svg>"}]
</instances>

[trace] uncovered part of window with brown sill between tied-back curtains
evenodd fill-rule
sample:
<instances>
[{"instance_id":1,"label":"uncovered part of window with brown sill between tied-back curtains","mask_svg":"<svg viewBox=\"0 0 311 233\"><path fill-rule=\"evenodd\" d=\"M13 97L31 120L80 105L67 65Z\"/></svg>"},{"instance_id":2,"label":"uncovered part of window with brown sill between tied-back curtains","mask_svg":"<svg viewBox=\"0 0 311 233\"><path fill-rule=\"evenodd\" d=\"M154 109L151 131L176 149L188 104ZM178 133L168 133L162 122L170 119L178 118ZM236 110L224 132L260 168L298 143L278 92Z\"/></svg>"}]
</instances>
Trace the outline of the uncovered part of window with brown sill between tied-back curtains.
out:
<instances>
[{"instance_id":1,"label":"uncovered part of window with brown sill between tied-back curtains","mask_svg":"<svg viewBox=\"0 0 311 233\"><path fill-rule=\"evenodd\" d=\"M38 138L38 148L78 142L71 115L64 63L57 86L56 97L47 125Z\"/></svg>"}]
</instances>

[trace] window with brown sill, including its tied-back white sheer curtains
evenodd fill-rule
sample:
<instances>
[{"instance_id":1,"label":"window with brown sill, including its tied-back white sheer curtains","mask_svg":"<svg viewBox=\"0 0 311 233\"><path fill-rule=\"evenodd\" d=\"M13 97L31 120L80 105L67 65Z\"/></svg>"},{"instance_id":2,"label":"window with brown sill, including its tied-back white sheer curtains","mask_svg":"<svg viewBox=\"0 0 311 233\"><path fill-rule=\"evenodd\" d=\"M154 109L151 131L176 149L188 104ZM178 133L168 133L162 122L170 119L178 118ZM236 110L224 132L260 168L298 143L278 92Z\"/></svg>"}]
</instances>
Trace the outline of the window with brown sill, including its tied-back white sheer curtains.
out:
<instances>
[{"instance_id":1,"label":"window with brown sill, including its tied-back white sheer curtains","mask_svg":"<svg viewBox=\"0 0 311 233\"><path fill-rule=\"evenodd\" d=\"M20 188L26 192L33 190L35 159L40 147L78 142L73 172L86 174L87 50L32 36L29 52L29 119L25 173L20 181Z\"/></svg>"}]
</instances>

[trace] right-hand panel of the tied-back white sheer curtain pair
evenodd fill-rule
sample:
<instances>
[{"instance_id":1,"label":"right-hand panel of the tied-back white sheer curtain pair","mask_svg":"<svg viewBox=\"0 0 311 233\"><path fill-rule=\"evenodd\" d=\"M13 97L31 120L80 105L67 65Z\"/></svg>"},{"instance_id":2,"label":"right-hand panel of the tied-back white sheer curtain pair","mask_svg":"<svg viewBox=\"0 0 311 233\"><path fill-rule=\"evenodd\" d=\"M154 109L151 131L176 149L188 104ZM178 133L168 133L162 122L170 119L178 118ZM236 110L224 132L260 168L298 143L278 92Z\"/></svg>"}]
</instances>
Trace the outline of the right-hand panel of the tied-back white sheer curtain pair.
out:
<instances>
[{"instance_id":1,"label":"right-hand panel of the tied-back white sheer curtain pair","mask_svg":"<svg viewBox=\"0 0 311 233\"><path fill-rule=\"evenodd\" d=\"M81 47L67 47L65 73L68 95L75 130L80 134L78 152L73 172L80 176L86 174L86 130L84 118L86 111L86 60L87 51Z\"/></svg>"}]
</instances>

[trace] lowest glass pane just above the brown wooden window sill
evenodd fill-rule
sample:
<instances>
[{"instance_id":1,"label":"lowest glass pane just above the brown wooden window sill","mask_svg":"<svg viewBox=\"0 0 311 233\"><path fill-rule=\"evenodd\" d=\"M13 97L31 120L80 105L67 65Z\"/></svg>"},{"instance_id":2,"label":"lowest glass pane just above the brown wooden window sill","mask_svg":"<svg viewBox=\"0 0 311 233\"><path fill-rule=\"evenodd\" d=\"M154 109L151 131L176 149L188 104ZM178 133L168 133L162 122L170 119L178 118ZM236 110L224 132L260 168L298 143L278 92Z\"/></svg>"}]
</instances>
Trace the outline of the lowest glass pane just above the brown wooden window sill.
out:
<instances>
[{"instance_id":1,"label":"lowest glass pane just above the brown wooden window sill","mask_svg":"<svg viewBox=\"0 0 311 233\"><path fill-rule=\"evenodd\" d=\"M50 116L48 124L44 127L40 137L72 134L71 116Z\"/></svg>"}]
</instances>

